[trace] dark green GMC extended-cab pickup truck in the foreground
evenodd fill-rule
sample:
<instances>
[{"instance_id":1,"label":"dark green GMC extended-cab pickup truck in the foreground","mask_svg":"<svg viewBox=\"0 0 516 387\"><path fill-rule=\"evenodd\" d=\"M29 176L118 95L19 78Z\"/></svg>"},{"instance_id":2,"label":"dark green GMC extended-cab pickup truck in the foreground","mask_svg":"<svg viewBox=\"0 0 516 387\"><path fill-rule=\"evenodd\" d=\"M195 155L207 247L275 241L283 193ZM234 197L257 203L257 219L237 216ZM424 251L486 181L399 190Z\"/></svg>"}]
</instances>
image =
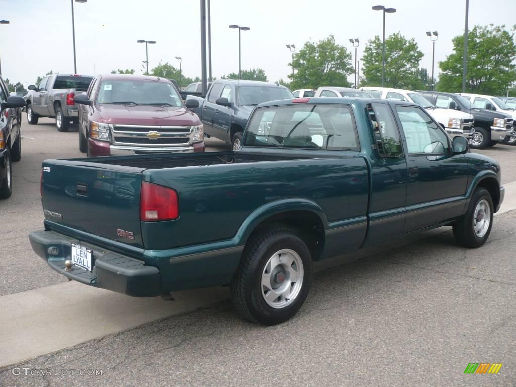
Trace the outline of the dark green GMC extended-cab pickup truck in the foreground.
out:
<instances>
[{"instance_id":1,"label":"dark green GMC extended-cab pickup truck in the foreground","mask_svg":"<svg viewBox=\"0 0 516 387\"><path fill-rule=\"evenodd\" d=\"M136 297L230 285L238 312L292 317L312 262L452 226L479 247L504 198L495 160L407 102L259 105L239 151L46 160L34 251Z\"/></svg>"}]
</instances>

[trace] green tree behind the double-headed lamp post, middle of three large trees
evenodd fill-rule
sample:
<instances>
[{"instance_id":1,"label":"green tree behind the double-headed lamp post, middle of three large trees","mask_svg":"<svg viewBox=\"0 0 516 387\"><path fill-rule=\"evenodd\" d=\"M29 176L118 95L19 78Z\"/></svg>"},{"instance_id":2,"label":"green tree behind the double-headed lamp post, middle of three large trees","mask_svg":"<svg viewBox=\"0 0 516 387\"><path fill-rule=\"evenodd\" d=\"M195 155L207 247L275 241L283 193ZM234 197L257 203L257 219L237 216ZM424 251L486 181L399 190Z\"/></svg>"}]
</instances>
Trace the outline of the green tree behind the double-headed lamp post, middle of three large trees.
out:
<instances>
[{"instance_id":1,"label":"green tree behind the double-headed lamp post, middle of three large trees","mask_svg":"<svg viewBox=\"0 0 516 387\"><path fill-rule=\"evenodd\" d=\"M379 36L368 40L362 57L362 84L381 86L382 84L382 41ZM422 87L419 65L423 53L415 40L407 39L400 33L385 39L385 87L416 89ZM428 77L428 73L426 75ZM425 84L426 87L426 84Z\"/></svg>"}]
</instances>

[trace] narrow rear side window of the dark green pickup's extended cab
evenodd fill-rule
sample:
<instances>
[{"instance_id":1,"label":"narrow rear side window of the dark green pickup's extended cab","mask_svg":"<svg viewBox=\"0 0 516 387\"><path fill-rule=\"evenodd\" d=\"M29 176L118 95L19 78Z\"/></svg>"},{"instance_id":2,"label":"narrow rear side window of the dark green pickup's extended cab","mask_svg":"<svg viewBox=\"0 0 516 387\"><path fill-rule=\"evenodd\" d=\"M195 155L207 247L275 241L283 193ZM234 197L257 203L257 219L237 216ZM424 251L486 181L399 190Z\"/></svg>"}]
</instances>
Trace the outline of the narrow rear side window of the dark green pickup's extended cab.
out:
<instances>
[{"instance_id":1,"label":"narrow rear side window of the dark green pickup's extended cab","mask_svg":"<svg viewBox=\"0 0 516 387\"><path fill-rule=\"evenodd\" d=\"M368 105L378 152L382 157L399 157L403 154L398 126L389 105Z\"/></svg>"}]
</instances>

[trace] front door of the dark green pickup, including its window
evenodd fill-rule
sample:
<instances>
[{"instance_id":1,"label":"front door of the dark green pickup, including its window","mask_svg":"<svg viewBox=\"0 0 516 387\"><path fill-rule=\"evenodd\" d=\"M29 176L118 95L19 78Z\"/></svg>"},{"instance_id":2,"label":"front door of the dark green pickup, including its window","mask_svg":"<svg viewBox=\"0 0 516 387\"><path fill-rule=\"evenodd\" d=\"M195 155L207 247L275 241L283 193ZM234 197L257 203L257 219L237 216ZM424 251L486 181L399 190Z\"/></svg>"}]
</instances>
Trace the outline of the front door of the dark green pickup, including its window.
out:
<instances>
[{"instance_id":1,"label":"front door of the dark green pickup, including its window","mask_svg":"<svg viewBox=\"0 0 516 387\"><path fill-rule=\"evenodd\" d=\"M451 153L451 140L418 106L396 105L406 141L408 185L404 232L430 227L463 212L467 159Z\"/></svg>"}]
</instances>

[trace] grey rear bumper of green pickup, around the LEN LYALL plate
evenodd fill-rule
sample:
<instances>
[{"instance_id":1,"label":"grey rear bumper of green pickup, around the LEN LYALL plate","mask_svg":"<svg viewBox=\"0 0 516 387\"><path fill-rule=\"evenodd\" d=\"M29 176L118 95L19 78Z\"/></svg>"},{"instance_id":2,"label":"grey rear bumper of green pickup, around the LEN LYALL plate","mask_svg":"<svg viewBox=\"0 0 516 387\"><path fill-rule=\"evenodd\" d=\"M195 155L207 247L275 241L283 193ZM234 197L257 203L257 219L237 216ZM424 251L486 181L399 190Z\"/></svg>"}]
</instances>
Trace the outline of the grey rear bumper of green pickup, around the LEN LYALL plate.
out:
<instances>
[{"instance_id":1,"label":"grey rear bumper of green pickup, around the LEN LYALL plate","mask_svg":"<svg viewBox=\"0 0 516 387\"><path fill-rule=\"evenodd\" d=\"M155 297L161 293L157 267L146 266L142 261L55 231L31 232L29 240L36 254L51 268L72 280L133 297ZM70 259L72 243L93 250L91 272L78 266L72 266L70 271L66 270L65 261ZM58 253L50 255L51 247L56 247Z\"/></svg>"}]
</instances>

